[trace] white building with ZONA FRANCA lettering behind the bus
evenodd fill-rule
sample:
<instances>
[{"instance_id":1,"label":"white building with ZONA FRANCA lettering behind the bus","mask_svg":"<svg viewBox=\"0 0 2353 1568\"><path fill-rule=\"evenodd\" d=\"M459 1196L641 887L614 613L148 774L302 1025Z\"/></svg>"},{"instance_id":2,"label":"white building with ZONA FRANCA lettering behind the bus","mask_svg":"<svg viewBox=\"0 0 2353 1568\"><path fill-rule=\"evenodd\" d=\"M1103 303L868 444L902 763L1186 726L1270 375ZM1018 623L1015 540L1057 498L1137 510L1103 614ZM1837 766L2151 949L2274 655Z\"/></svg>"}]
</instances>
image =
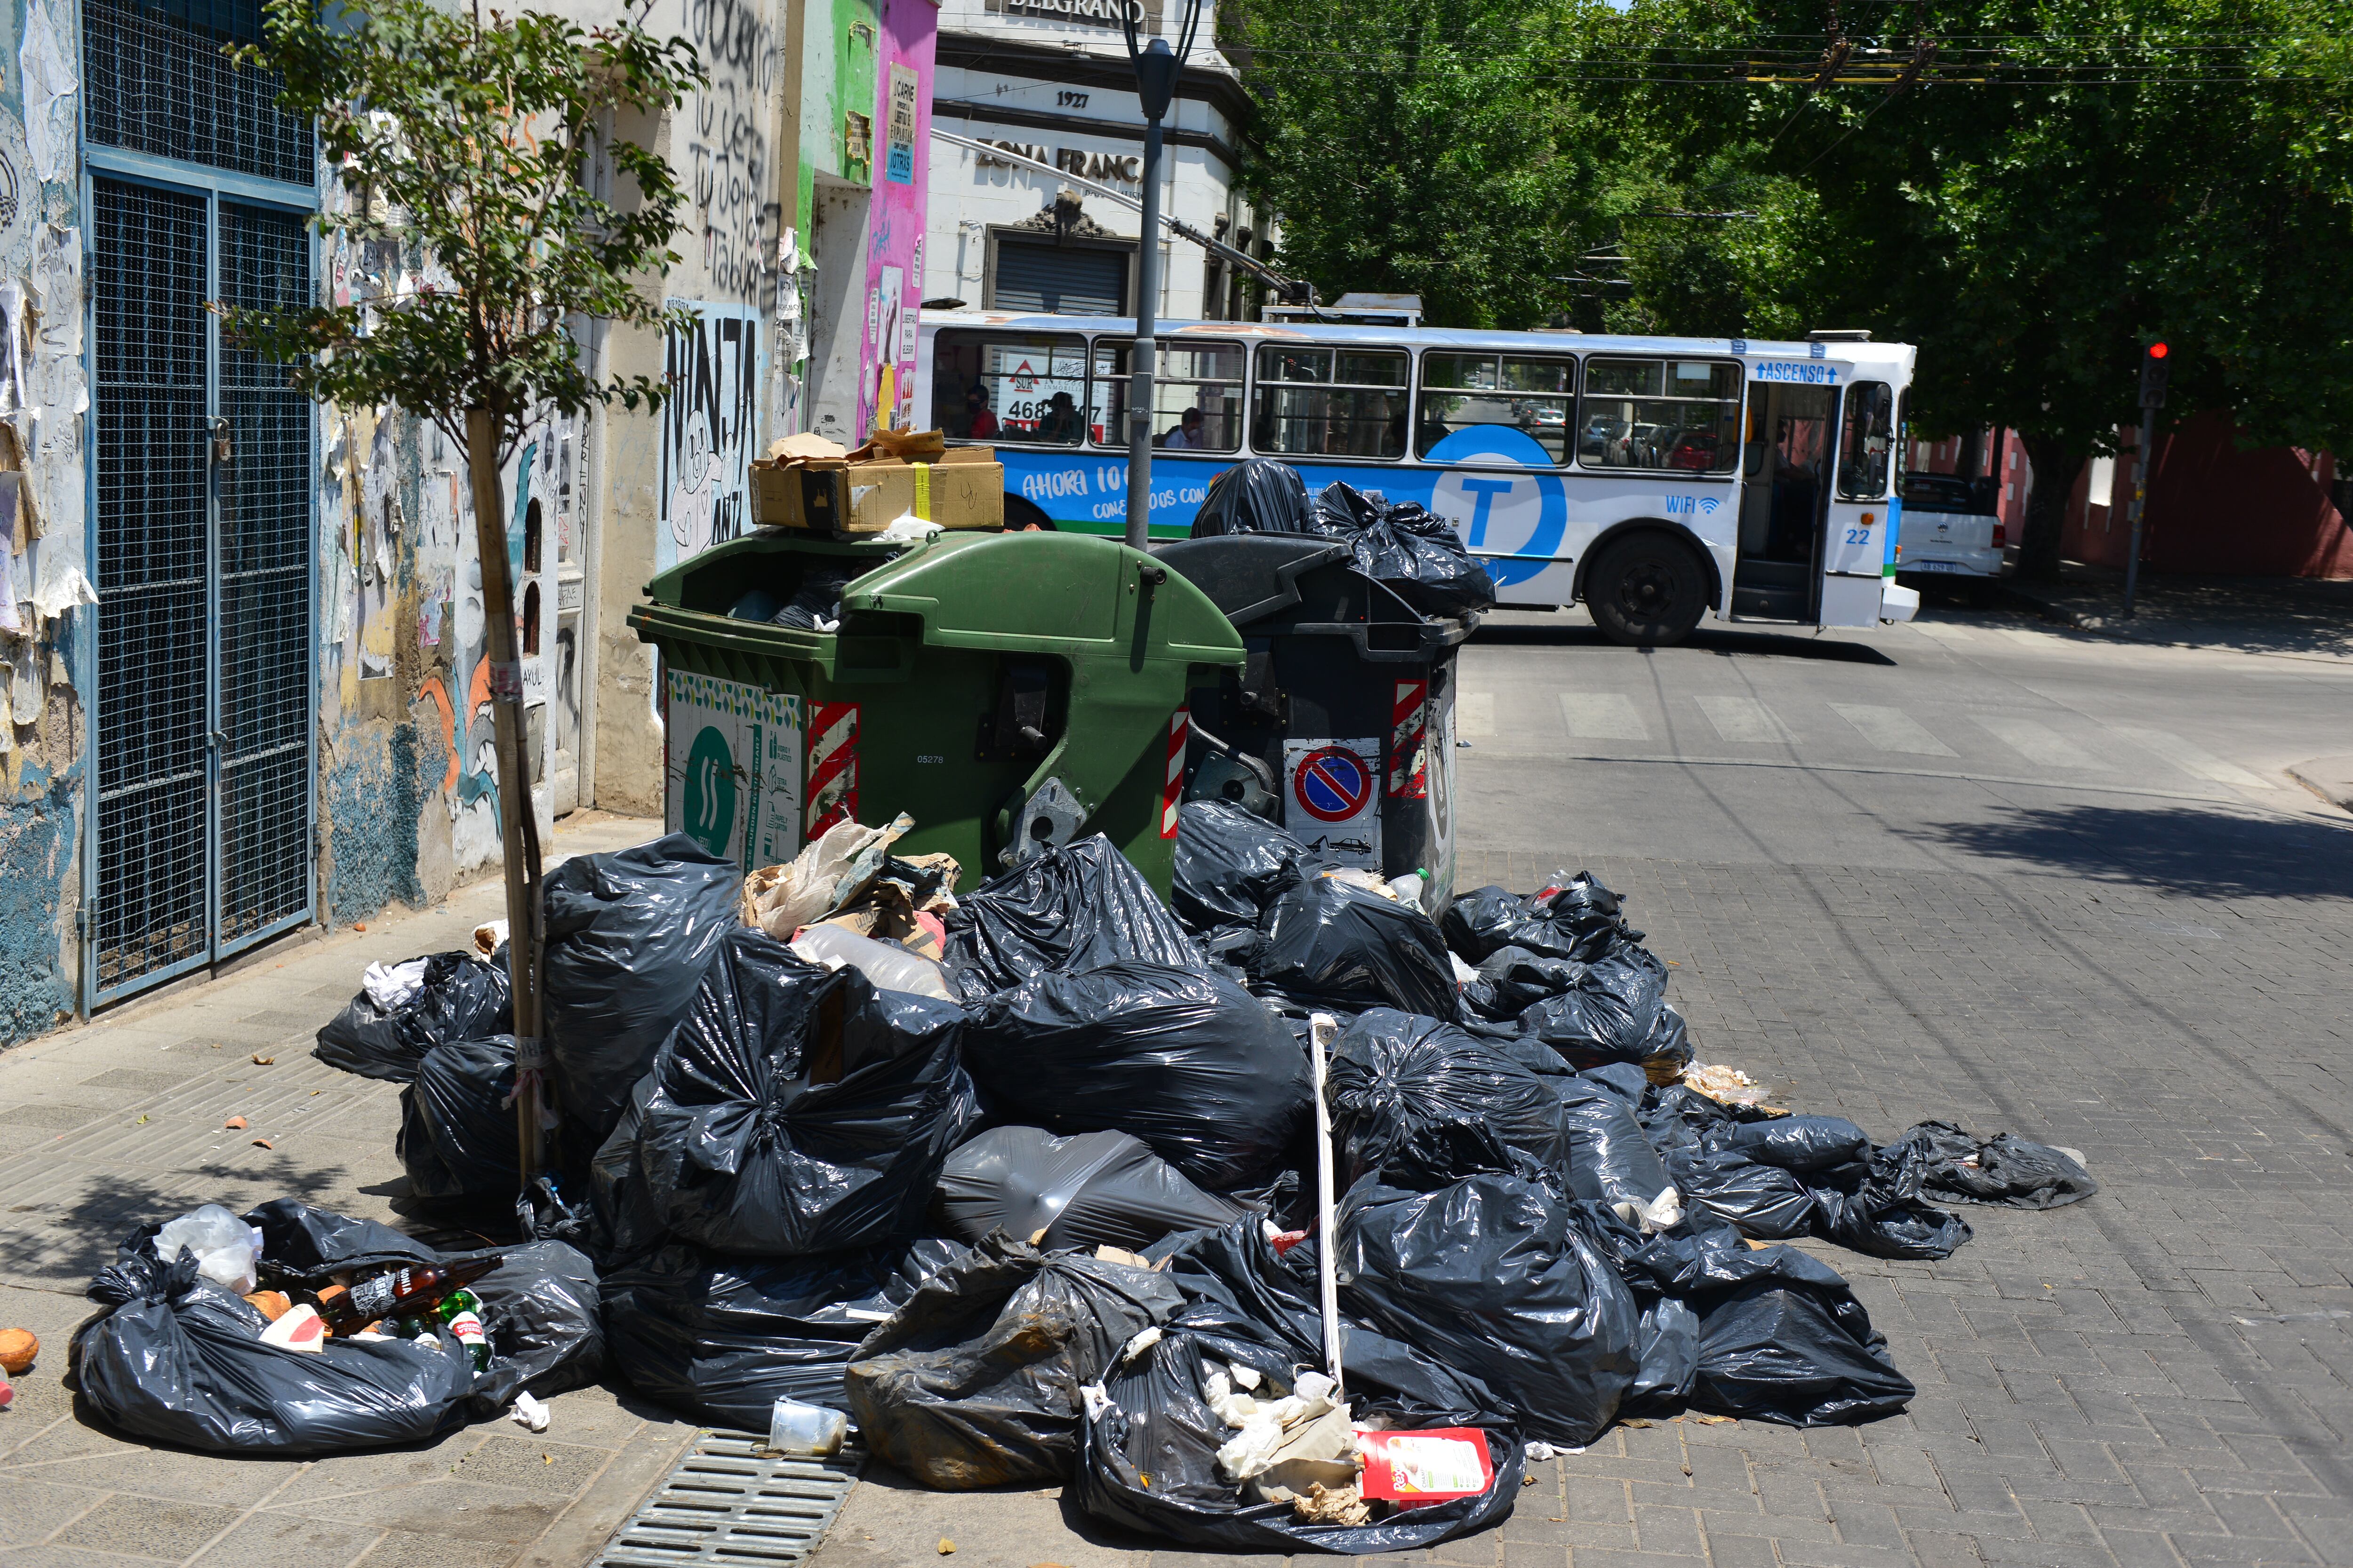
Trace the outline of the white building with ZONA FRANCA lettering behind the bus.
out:
<instances>
[{"instance_id":1,"label":"white building with ZONA FRANCA lettering behind the bus","mask_svg":"<svg viewBox=\"0 0 2353 1568\"><path fill-rule=\"evenodd\" d=\"M1174 31L1181 0L1141 7L1141 35ZM932 125L1042 158L1056 169L1141 195L1144 113L1120 33L1122 0L944 0ZM1200 35L1165 125L1160 209L1252 256L1266 237L1242 197L1240 136L1249 118L1233 61L1217 49L1217 16ZM925 303L993 310L1129 315L1141 216L1066 179L932 139ZM1160 317L1240 317L1231 263L1162 237Z\"/></svg>"}]
</instances>

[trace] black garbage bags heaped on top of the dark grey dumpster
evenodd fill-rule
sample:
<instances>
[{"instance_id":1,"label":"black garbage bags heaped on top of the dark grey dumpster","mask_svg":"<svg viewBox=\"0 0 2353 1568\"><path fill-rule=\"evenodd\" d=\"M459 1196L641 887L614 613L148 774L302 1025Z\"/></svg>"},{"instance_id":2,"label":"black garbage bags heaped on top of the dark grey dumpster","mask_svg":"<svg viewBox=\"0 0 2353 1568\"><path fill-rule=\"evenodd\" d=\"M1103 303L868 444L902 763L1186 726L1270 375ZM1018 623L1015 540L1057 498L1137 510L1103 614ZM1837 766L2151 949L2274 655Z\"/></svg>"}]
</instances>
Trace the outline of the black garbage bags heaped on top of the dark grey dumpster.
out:
<instances>
[{"instance_id":1,"label":"black garbage bags heaped on top of the dark grey dumpster","mask_svg":"<svg viewBox=\"0 0 2353 1568\"><path fill-rule=\"evenodd\" d=\"M1348 545L1355 569L1426 616L1464 616L1494 604L1494 578L1445 517L1419 501L1388 501L1327 484L1308 501L1289 463L1249 458L1209 480L1193 538L1219 534L1320 534Z\"/></svg>"}]
</instances>

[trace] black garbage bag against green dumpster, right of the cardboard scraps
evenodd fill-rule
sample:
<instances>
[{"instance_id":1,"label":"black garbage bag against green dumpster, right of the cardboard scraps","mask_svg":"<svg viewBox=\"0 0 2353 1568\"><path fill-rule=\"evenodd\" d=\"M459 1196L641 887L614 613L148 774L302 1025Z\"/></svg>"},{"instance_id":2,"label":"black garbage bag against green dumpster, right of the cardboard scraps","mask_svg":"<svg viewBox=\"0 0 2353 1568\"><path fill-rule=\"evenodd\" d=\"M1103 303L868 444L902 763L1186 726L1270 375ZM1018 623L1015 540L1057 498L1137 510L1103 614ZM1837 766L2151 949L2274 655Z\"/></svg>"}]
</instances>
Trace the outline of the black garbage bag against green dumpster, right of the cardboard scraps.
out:
<instances>
[{"instance_id":1,"label":"black garbage bag against green dumpster, right of the cardboard scraps","mask_svg":"<svg viewBox=\"0 0 2353 1568\"><path fill-rule=\"evenodd\" d=\"M1094 835L1024 860L946 917L948 973L967 1001L1024 980L1104 964L1202 964L1193 938L1111 839Z\"/></svg>"}]
</instances>

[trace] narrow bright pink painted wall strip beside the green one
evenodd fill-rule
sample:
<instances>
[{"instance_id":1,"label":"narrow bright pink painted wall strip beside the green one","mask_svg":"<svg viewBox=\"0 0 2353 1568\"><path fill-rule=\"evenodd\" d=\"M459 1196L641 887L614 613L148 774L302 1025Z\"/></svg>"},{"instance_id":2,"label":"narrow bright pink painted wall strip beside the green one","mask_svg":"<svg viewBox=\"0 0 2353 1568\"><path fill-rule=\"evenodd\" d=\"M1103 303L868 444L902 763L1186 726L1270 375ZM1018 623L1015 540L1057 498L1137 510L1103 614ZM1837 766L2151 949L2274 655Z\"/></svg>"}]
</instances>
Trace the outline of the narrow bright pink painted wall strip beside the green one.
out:
<instances>
[{"instance_id":1,"label":"narrow bright pink painted wall strip beside the green one","mask_svg":"<svg viewBox=\"0 0 2353 1568\"><path fill-rule=\"evenodd\" d=\"M875 428L875 409L882 409L882 423L915 423L915 313L922 306L922 205L932 169L936 45L936 0L882 0L859 433Z\"/></svg>"}]
</instances>

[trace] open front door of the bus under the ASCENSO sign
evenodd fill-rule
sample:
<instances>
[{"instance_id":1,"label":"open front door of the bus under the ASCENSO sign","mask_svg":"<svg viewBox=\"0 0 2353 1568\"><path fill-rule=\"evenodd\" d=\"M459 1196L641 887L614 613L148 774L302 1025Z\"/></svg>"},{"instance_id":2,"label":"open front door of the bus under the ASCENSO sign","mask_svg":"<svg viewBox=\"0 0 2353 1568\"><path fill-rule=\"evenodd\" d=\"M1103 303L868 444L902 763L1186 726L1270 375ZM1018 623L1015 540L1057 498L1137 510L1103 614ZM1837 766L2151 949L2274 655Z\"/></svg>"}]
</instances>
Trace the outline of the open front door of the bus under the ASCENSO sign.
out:
<instances>
[{"instance_id":1,"label":"open front door of the bus under the ASCENSO sign","mask_svg":"<svg viewBox=\"0 0 2353 1568\"><path fill-rule=\"evenodd\" d=\"M1814 621L1821 609L1838 388L1849 374L1852 367L1838 360L1755 360L1748 367L1734 616Z\"/></svg>"}]
</instances>

